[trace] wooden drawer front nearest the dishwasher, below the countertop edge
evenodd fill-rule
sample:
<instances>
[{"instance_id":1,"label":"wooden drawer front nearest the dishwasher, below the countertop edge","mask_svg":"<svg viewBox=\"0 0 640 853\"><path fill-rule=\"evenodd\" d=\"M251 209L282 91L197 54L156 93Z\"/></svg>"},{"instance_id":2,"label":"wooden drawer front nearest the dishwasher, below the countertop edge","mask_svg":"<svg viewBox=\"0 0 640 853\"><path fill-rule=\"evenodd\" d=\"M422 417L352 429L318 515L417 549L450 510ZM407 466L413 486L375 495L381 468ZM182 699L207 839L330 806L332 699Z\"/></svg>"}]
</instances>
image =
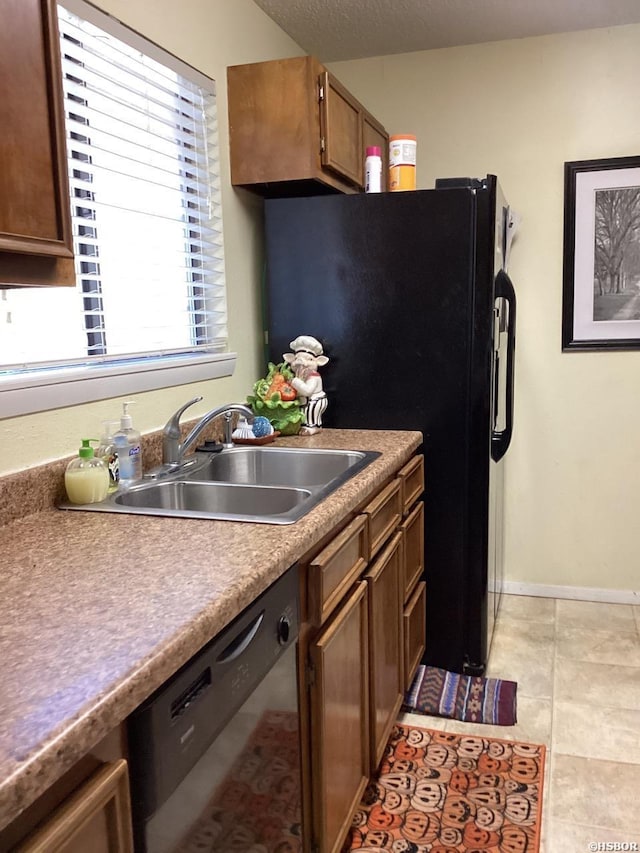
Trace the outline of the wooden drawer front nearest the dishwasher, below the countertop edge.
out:
<instances>
[{"instance_id":1,"label":"wooden drawer front nearest the dishwasher, below the countertop edge","mask_svg":"<svg viewBox=\"0 0 640 853\"><path fill-rule=\"evenodd\" d=\"M367 565L367 518L359 515L309 564L309 622L322 625Z\"/></svg>"}]
</instances>

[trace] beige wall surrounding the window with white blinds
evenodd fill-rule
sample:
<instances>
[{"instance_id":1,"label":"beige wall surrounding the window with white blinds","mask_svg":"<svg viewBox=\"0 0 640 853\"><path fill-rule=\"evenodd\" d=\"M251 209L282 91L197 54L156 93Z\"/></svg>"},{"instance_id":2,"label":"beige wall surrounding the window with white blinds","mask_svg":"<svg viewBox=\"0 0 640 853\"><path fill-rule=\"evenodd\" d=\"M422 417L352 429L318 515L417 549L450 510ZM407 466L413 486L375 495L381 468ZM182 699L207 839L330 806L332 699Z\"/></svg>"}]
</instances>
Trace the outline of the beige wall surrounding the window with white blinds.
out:
<instances>
[{"instance_id":1,"label":"beige wall surrounding the window with white blinds","mask_svg":"<svg viewBox=\"0 0 640 853\"><path fill-rule=\"evenodd\" d=\"M302 51L252 0L94 0L95 5L217 81L229 343L237 352L227 379L132 395L142 432L161 427L178 406L204 400L187 417L216 405L244 401L263 369L260 280L262 202L229 183L226 67ZM120 401L103 400L19 418L0 417L0 475L75 453L79 439L97 435L100 422L119 416ZM0 413L2 411L0 404Z\"/></svg>"}]
</instances>

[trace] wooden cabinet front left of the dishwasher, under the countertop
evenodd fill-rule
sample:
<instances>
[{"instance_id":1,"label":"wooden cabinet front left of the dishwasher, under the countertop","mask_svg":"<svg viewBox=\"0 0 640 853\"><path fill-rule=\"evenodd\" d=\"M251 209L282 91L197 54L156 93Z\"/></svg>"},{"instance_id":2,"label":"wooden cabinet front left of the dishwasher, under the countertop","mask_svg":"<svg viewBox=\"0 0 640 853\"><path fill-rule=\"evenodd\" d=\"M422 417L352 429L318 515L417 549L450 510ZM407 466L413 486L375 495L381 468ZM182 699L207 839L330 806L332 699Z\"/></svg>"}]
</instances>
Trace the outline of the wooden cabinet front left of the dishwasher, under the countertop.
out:
<instances>
[{"instance_id":1,"label":"wooden cabinet front left of the dishwasher, under the countertop","mask_svg":"<svg viewBox=\"0 0 640 853\"><path fill-rule=\"evenodd\" d=\"M127 762L98 768L17 853L133 853Z\"/></svg>"}]
</instances>

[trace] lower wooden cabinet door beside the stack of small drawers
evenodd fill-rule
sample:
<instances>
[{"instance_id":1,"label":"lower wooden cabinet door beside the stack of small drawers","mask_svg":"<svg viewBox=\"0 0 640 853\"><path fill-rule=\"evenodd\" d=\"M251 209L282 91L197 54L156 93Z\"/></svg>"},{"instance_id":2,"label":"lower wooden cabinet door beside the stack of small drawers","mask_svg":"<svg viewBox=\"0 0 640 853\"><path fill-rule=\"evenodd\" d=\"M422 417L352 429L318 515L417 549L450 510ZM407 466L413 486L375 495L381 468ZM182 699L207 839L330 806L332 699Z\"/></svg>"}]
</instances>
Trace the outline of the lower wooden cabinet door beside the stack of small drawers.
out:
<instances>
[{"instance_id":1,"label":"lower wooden cabinet door beside the stack of small drawers","mask_svg":"<svg viewBox=\"0 0 640 853\"><path fill-rule=\"evenodd\" d=\"M365 574L369 584L371 772L384 753L402 699L402 536L396 533Z\"/></svg>"}]
</instances>

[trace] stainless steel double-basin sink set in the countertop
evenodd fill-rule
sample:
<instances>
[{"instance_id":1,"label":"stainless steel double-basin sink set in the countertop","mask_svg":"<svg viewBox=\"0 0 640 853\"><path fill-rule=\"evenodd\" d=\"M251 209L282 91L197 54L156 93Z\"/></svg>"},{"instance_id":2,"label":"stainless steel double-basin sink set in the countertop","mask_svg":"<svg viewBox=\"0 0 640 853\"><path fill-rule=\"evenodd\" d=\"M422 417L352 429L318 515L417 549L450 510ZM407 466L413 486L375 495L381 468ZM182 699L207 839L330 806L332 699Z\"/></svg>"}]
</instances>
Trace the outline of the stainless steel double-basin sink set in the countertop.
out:
<instances>
[{"instance_id":1,"label":"stainless steel double-basin sink set in the countertop","mask_svg":"<svg viewBox=\"0 0 640 853\"><path fill-rule=\"evenodd\" d=\"M380 454L233 447L198 452L178 471L65 509L292 524Z\"/></svg>"}]
</instances>

